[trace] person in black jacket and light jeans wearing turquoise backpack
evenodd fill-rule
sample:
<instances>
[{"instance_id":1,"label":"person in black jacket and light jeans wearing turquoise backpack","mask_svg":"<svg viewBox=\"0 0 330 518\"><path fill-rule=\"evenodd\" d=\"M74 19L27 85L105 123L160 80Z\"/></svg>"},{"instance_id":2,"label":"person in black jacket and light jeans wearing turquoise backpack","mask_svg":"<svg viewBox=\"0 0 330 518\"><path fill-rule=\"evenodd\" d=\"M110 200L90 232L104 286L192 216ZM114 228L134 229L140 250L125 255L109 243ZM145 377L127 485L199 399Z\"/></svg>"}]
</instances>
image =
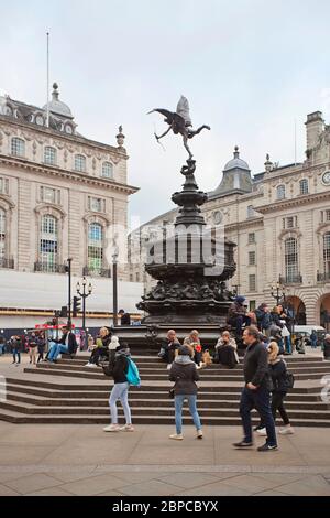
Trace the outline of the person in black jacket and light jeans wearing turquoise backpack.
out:
<instances>
[{"instance_id":1,"label":"person in black jacket and light jeans wearing turquoise backpack","mask_svg":"<svg viewBox=\"0 0 330 518\"><path fill-rule=\"evenodd\" d=\"M110 393L109 398L109 407L110 407L110 414L111 414L111 424L109 427L103 428L105 432L133 432L134 428L132 424L131 418L131 409L129 406L129 388L130 384L128 382L128 371L129 371L129 358L130 358L130 349L128 344L122 343L119 344L114 358L110 355L110 370L112 371L113 377L113 388ZM113 358L113 360L111 360ZM120 400L124 416L125 416L125 425L120 427L118 424L118 409L117 409L117 401Z\"/></svg>"}]
</instances>

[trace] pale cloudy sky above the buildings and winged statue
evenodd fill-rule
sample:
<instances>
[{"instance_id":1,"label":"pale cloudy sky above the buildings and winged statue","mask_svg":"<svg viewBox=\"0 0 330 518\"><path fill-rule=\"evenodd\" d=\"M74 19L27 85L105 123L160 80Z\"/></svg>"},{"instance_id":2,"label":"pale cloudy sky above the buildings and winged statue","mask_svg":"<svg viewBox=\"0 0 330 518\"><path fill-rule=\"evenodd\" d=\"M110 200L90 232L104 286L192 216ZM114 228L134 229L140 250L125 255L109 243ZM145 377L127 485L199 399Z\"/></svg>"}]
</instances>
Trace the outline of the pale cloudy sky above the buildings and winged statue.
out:
<instances>
[{"instance_id":1,"label":"pale cloudy sky above the buildings and winged statue","mask_svg":"<svg viewBox=\"0 0 330 518\"><path fill-rule=\"evenodd\" d=\"M253 173L273 161L304 160L308 112L330 122L329 0L0 0L0 88L42 106L46 36L51 82L58 82L78 130L116 143L122 125L129 182L141 187L130 213L141 223L172 208L186 152L154 139L184 94L194 125L197 179L216 188L235 144Z\"/></svg>"}]
</instances>

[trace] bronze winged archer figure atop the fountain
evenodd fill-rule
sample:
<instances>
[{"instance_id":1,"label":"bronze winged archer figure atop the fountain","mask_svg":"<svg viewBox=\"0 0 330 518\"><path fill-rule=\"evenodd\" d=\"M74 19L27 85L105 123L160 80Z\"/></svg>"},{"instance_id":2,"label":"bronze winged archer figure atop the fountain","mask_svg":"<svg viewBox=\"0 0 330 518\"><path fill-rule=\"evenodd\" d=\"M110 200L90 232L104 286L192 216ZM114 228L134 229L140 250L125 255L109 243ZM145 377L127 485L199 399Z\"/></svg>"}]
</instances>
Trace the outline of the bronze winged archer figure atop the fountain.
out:
<instances>
[{"instance_id":1,"label":"bronze winged archer figure atop the fountain","mask_svg":"<svg viewBox=\"0 0 330 518\"><path fill-rule=\"evenodd\" d=\"M180 97L180 100L176 107L176 111L173 112L164 108L155 108L154 110L148 111L148 114L153 114L154 111L158 111L158 114L164 115L166 117L164 121L169 125L169 128L160 137L155 133L157 141L165 137L165 134L167 134L170 130L173 130L175 134L182 134L184 139L184 145L189 153L189 159L191 160L193 153L188 145L188 139L193 139L193 137L200 133L202 129L210 130L211 128L209 126L202 125L197 130L193 129L193 122L189 114L189 102L188 99L186 99L184 96Z\"/></svg>"}]
</instances>

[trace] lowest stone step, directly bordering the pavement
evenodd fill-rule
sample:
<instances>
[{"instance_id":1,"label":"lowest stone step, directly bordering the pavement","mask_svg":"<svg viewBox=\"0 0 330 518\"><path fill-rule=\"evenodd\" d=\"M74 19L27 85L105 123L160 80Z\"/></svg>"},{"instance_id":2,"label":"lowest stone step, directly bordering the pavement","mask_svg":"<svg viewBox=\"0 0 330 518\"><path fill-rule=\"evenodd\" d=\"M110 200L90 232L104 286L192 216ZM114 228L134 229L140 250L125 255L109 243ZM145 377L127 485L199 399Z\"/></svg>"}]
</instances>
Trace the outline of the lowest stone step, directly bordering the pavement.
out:
<instances>
[{"instance_id":1,"label":"lowest stone step, directly bordering the pavement","mask_svg":"<svg viewBox=\"0 0 330 518\"><path fill-rule=\"evenodd\" d=\"M109 417L106 416L28 416L11 410L0 409L0 420L8 421L16 424L109 424ZM120 422L123 424L124 420L120 414ZM134 416L134 425L138 429L139 424L170 424L174 427L174 417L158 416L155 419L154 416ZM193 425L190 417L184 417L184 424ZM253 417L252 424L258 423L257 416ZM296 419L292 423L295 427L320 427L328 428L329 421L314 419ZM241 419L238 418L226 418L226 417L209 417L202 421L204 425L234 425L241 427ZM280 422L278 423L280 424Z\"/></svg>"}]
</instances>

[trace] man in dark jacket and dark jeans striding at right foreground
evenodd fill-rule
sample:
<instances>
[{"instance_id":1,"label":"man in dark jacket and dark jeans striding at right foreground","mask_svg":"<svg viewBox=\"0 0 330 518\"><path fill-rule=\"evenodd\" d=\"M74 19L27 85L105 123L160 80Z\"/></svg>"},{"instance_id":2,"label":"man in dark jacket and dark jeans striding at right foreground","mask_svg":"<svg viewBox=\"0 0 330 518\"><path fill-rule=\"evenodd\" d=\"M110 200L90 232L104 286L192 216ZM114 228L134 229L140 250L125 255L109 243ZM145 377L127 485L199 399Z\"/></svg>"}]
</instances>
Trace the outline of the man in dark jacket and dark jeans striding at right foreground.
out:
<instances>
[{"instance_id":1,"label":"man in dark jacket and dark jeans striding at right foreground","mask_svg":"<svg viewBox=\"0 0 330 518\"><path fill-rule=\"evenodd\" d=\"M277 450L275 423L271 409L271 379L268 375L268 353L258 342L258 330L249 326L243 333L244 344L248 345L244 356L244 380L240 403L240 414L243 422L244 438L233 445L238 449L253 446L251 410L255 408L264 423L267 439L257 451Z\"/></svg>"}]
</instances>

